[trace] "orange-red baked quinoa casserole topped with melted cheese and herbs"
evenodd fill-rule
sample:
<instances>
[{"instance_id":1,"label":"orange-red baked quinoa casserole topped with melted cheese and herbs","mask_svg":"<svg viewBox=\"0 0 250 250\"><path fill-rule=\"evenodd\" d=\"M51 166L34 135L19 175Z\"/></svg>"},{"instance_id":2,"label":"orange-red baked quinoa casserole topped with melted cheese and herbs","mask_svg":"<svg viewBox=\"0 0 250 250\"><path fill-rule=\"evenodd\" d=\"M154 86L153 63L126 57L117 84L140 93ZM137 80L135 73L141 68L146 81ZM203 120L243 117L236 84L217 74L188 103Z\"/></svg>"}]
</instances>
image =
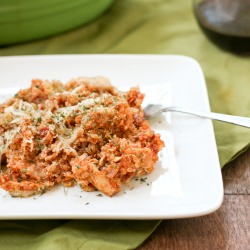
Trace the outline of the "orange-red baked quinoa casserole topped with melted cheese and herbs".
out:
<instances>
[{"instance_id":1,"label":"orange-red baked quinoa casserole topped with melted cheese and herbs","mask_svg":"<svg viewBox=\"0 0 250 250\"><path fill-rule=\"evenodd\" d=\"M143 98L104 77L32 80L0 105L0 187L27 197L78 184L113 196L149 174L164 143L143 117Z\"/></svg>"}]
</instances>

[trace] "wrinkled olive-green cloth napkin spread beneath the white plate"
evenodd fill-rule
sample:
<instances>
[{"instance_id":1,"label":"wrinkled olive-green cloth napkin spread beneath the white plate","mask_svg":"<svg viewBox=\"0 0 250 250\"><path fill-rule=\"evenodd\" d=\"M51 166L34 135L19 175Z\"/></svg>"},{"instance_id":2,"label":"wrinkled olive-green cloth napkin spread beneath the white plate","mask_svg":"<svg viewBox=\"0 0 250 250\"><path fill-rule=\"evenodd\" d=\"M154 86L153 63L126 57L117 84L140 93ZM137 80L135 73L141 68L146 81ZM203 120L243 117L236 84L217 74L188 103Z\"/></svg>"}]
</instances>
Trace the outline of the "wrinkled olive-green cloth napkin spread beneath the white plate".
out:
<instances>
[{"instance_id":1,"label":"wrinkled olive-green cloth napkin spread beneath the white plate","mask_svg":"<svg viewBox=\"0 0 250 250\"><path fill-rule=\"evenodd\" d=\"M116 0L86 26L32 43L0 48L0 55L90 53L181 54L203 68L211 109L250 116L250 58L218 49L203 35L183 0ZM249 129L214 122L221 167L247 149ZM204 145L205 146L205 145ZM134 249L159 221L1 221L0 249Z\"/></svg>"}]
</instances>

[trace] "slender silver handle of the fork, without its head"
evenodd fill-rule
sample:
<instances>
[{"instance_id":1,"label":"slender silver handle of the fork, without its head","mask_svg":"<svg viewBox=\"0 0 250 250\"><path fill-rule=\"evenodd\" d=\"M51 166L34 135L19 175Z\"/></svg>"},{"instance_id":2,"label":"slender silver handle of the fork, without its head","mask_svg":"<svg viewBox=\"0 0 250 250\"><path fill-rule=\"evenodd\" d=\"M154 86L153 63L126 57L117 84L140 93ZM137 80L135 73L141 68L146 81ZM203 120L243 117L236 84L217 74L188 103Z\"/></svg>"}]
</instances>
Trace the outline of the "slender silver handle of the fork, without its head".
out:
<instances>
[{"instance_id":1,"label":"slender silver handle of the fork, without its head","mask_svg":"<svg viewBox=\"0 0 250 250\"><path fill-rule=\"evenodd\" d=\"M219 113L214 113L214 112L202 112L202 111L193 111L193 110L191 111L189 109L179 108L179 107L167 107L167 108L164 108L162 111L164 111L164 112L168 112L168 111L181 112L181 113L210 118L213 120L228 122L228 123L232 123L232 124L236 124L236 125L250 128L250 118L248 118L248 117L225 115L225 114L219 114Z\"/></svg>"}]
</instances>

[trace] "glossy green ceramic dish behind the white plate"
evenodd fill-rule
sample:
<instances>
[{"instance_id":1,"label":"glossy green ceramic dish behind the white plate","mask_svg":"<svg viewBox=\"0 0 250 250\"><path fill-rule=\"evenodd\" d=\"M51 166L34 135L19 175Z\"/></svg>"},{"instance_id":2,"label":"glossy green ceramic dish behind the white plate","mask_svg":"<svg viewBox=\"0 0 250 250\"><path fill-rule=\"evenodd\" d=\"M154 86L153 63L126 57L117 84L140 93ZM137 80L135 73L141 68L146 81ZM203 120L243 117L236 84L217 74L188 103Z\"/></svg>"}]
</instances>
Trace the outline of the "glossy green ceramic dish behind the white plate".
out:
<instances>
[{"instance_id":1,"label":"glossy green ceramic dish behind the white plate","mask_svg":"<svg viewBox=\"0 0 250 250\"><path fill-rule=\"evenodd\" d=\"M0 45L55 35L86 24L114 0L8 0L0 3Z\"/></svg>"}]
</instances>

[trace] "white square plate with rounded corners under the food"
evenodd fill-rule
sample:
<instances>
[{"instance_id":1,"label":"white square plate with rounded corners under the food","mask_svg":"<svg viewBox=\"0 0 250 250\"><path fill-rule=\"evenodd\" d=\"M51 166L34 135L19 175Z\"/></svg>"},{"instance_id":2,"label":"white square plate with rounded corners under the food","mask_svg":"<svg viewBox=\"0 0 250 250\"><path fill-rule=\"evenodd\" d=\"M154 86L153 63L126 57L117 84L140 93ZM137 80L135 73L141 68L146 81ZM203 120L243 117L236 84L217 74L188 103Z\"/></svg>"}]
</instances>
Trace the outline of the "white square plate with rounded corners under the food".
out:
<instances>
[{"instance_id":1,"label":"white square plate with rounded corners under the food","mask_svg":"<svg viewBox=\"0 0 250 250\"><path fill-rule=\"evenodd\" d=\"M0 58L0 97L32 78L63 82L103 75L119 89L139 85L147 102L209 111L204 77L191 58L168 55L61 55ZM152 122L166 147L155 171L116 196L55 187L42 196L12 198L0 189L0 219L164 219L211 213L223 200L212 122L166 114Z\"/></svg>"}]
</instances>

